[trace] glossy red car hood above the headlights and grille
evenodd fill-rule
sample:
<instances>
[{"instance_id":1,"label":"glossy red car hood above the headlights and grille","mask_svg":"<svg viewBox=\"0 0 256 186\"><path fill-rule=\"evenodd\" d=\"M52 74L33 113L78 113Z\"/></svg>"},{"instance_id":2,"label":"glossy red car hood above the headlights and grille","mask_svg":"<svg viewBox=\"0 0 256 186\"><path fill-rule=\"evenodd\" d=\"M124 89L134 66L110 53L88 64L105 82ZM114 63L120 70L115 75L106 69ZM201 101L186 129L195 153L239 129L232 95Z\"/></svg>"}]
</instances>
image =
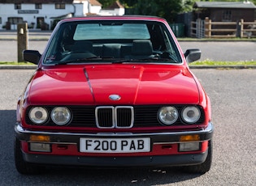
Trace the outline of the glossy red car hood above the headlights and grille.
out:
<instances>
[{"instance_id":1,"label":"glossy red car hood above the headlights and grille","mask_svg":"<svg viewBox=\"0 0 256 186\"><path fill-rule=\"evenodd\" d=\"M95 65L38 70L30 104L198 104L197 83L178 66ZM119 95L111 100L110 95Z\"/></svg>"}]
</instances>

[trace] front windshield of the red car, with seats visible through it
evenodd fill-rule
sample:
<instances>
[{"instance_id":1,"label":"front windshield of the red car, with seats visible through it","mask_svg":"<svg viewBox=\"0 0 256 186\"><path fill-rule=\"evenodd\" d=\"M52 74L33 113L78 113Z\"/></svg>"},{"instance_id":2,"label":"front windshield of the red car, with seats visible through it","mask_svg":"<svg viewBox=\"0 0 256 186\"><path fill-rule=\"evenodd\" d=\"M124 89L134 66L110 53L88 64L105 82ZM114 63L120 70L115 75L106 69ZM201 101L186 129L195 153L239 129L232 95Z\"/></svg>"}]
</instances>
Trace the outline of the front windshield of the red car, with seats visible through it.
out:
<instances>
[{"instance_id":1,"label":"front windshield of the red car, with seats visible through it","mask_svg":"<svg viewBox=\"0 0 256 186\"><path fill-rule=\"evenodd\" d=\"M46 51L44 64L181 63L176 44L163 23L98 20L59 25Z\"/></svg>"}]
</instances>

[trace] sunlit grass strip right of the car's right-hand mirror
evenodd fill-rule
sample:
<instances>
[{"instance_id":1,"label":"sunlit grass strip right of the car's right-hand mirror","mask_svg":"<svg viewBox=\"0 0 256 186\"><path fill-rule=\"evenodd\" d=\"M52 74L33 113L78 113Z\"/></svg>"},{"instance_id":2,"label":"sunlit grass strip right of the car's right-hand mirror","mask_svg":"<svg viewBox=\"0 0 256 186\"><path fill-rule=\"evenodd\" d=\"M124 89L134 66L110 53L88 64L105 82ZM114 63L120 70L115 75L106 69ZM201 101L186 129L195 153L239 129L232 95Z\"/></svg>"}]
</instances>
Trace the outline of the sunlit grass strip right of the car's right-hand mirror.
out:
<instances>
[{"instance_id":1,"label":"sunlit grass strip right of the car's right-hand mirror","mask_svg":"<svg viewBox=\"0 0 256 186\"><path fill-rule=\"evenodd\" d=\"M189 66L256 66L256 61L194 61Z\"/></svg>"}]
</instances>

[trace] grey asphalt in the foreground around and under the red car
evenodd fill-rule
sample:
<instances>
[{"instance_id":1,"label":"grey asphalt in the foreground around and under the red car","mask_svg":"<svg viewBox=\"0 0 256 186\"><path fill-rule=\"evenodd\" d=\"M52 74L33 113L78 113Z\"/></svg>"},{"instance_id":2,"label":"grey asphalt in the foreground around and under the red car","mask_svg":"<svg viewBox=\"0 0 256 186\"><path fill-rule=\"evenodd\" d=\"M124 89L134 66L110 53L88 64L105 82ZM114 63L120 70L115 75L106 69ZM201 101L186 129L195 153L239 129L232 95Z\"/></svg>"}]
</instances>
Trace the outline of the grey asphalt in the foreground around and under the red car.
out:
<instances>
[{"instance_id":1,"label":"grey asphalt in the foreground around and under the red car","mask_svg":"<svg viewBox=\"0 0 256 186\"><path fill-rule=\"evenodd\" d=\"M50 168L44 175L15 170L15 108L34 70L0 70L0 185L254 186L256 184L255 70L193 70L212 105L213 163L204 175L175 167L134 169Z\"/></svg>"}]
</instances>

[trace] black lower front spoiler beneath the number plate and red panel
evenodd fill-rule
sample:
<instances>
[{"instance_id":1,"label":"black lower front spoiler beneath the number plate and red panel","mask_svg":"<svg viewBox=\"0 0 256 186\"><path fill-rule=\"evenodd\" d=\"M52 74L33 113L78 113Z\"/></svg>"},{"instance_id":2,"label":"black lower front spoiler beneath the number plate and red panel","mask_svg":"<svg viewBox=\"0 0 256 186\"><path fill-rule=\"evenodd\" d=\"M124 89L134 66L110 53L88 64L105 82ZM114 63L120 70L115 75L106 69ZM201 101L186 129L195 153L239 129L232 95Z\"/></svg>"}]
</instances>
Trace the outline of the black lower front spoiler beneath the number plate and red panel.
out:
<instances>
[{"instance_id":1,"label":"black lower front spoiler beneath the number plate and red panel","mask_svg":"<svg viewBox=\"0 0 256 186\"><path fill-rule=\"evenodd\" d=\"M45 154L23 154L26 162L48 165L86 167L167 167L195 165L206 161L208 151L202 154L158 155L140 157L76 157Z\"/></svg>"}]
</instances>

